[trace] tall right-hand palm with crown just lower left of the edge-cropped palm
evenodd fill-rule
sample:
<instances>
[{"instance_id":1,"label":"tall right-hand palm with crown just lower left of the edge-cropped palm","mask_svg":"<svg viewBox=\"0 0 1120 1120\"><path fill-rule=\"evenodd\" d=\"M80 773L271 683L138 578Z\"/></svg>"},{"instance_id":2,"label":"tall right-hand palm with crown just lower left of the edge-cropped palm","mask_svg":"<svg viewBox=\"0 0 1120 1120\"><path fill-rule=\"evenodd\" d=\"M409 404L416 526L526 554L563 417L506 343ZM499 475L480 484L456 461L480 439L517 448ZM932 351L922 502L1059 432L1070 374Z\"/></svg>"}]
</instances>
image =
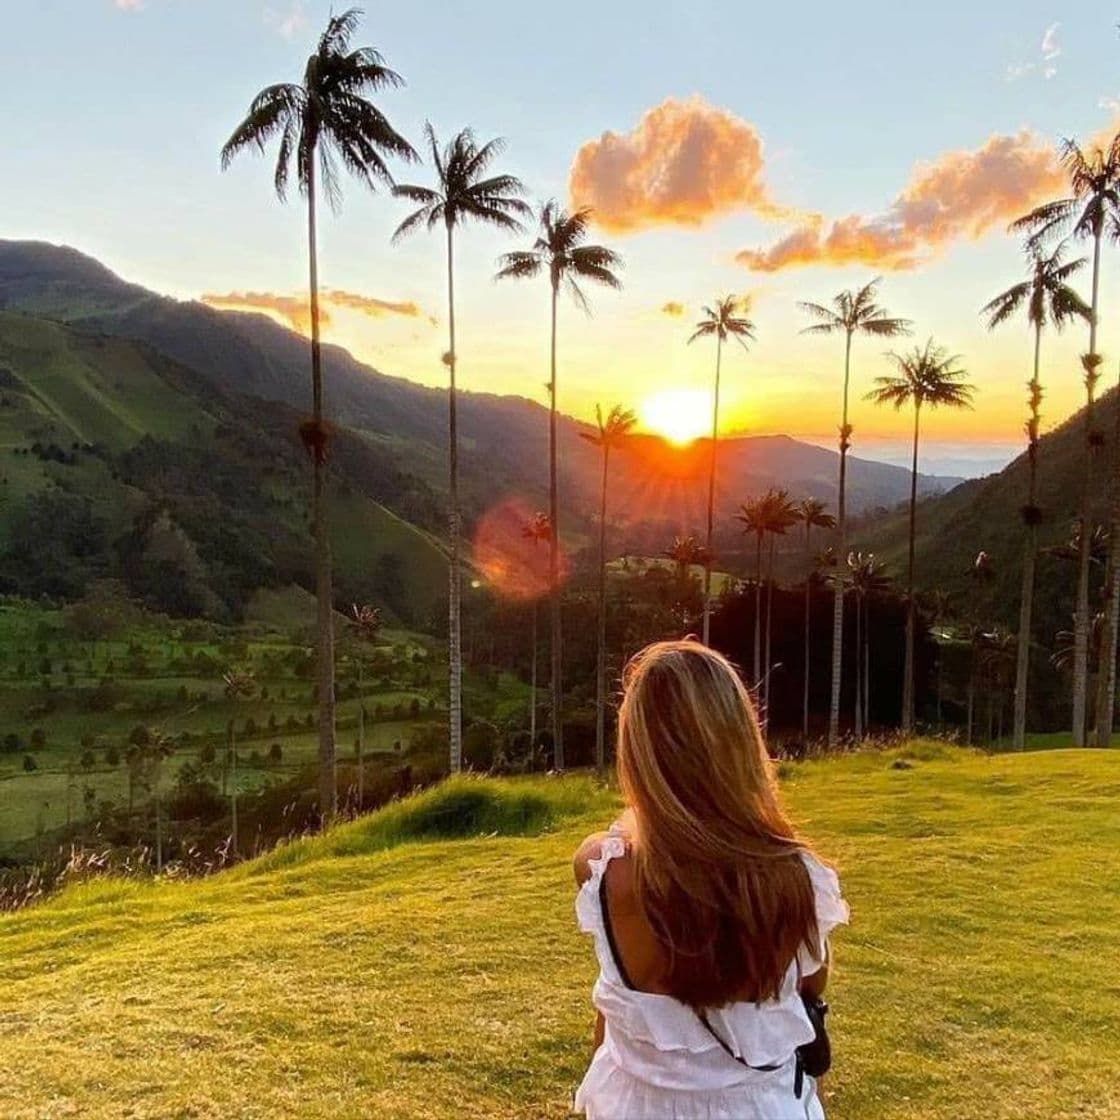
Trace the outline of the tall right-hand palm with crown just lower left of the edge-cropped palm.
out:
<instances>
[{"instance_id":1,"label":"tall right-hand palm with crown just lower left of the edge-cropped palm","mask_svg":"<svg viewBox=\"0 0 1120 1120\"><path fill-rule=\"evenodd\" d=\"M1023 506L1023 523L1026 541L1023 553L1023 591L1019 598L1019 637L1015 663L1015 711L1012 737L1016 750L1026 746L1027 738L1027 689L1030 678L1030 629L1035 595L1035 561L1038 553L1038 525L1042 511L1038 508L1038 408L1042 404L1043 386L1039 376L1043 329L1046 326L1061 330L1073 319L1089 319L1092 309L1070 287L1068 279L1085 263L1084 258L1074 261L1062 260L1063 246L1058 245L1048 256L1037 246L1027 250L1029 276L1012 284L986 304L981 315L988 317L988 329L1007 323L1019 308L1025 307L1027 321L1035 335L1035 361L1030 381L1027 383L1027 402L1030 410L1027 420L1027 504Z\"/></svg>"}]
</instances>

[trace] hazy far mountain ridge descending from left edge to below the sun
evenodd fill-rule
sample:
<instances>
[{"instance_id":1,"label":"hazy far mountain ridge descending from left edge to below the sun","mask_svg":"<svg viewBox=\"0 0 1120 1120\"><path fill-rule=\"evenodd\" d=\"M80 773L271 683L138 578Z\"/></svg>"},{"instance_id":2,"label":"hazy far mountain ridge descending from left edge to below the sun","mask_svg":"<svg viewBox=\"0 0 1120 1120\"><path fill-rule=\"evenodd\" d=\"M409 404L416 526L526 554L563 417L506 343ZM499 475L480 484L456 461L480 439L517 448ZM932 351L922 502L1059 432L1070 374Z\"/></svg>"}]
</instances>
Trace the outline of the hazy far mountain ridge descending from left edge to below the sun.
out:
<instances>
[{"instance_id":1,"label":"hazy far mountain ridge descending from left edge to below the sun","mask_svg":"<svg viewBox=\"0 0 1120 1120\"><path fill-rule=\"evenodd\" d=\"M116 277L73 249L41 242L0 242L0 308L49 316L86 332L139 339L213 382L241 394L308 405L307 340L265 316L218 311L198 302L157 296ZM399 456L401 469L436 491L446 487L446 394L389 376L345 349L325 347L327 405L333 418L371 446ZM459 427L468 521L517 495L540 507L547 493L545 410L523 398L463 393ZM560 424L559 458L567 531L580 543L598 505L599 464L580 433ZM624 540L664 547L666 535L694 531L703 521L708 445L674 448L657 437L618 456L614 506ZM908 473L896 466L850 460L849 502L855 512L889 506L908 493ZM730 438L720 445L719 516L772 485L794 496L834 503L837 455L788 437ZM923 476L922 493L960 479ZM730 529L725 530L730 538Z\"/></svg>"}]
</instances>

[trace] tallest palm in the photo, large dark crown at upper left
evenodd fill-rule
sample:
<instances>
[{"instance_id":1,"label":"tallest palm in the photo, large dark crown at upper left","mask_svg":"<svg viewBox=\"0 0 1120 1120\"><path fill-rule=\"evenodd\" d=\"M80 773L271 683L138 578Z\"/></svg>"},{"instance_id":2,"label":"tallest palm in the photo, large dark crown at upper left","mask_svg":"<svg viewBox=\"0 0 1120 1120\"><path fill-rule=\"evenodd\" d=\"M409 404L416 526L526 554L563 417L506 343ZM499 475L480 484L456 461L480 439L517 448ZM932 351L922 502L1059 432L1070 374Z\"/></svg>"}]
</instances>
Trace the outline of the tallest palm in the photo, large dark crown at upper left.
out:
<instances>
[{"instance_id":1,"label":"tallest palm in the photo, large dark crown at upper left","mask_svg":"<svg viewBox=\"0 0 1120 1120\"><path fill-rule=\"evenodd\" d=\"M286 82L262 90L253 99L245 119L222 148L224 169L246 148L263 151L268 141L279 139L273 177L277 195L281 200L287 197L295 165L299 193L307 198L311 418L300 427L300 436L312 464L311 528L318 604L319 809L325 820L334 816L338 794L335 788L334 591L325 495L329 440L323 408L316 205L320 187L332 206L339 203L339 164L372 189L379 183L392 184L385 157L416 159L412 146L367 97L367 94L402 83L372 47L351 49L351 38L360 17L361 12L354 8L340 16L332 16L315 54L307 60L302 82Z\"/></svg>"}]
</instances>

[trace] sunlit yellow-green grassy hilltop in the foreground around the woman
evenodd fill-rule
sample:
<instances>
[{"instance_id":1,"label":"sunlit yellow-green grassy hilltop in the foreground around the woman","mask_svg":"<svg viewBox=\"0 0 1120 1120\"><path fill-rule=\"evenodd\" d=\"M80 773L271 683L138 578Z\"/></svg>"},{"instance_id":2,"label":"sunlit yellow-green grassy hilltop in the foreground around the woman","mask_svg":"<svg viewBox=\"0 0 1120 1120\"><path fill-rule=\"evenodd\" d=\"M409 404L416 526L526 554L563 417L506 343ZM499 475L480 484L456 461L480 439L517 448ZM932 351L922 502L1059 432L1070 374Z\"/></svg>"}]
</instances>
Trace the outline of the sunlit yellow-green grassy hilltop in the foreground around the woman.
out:
<instances>
[{"instance_id":1,"label":"sunlit yellow-green grassy hilltop in the foreground around the woman","mask_svg":"<svg viewBox=\"0 0 1120 1120\"><path fill-rule=\"evenodd\" d=\"M853 923L832 1120L1114 1118L1120 754L783 768ZM561 1118L589 1052L589 780L460 781L194 881L0 918L0 1111Z\"/></svg>"}]
</instances>

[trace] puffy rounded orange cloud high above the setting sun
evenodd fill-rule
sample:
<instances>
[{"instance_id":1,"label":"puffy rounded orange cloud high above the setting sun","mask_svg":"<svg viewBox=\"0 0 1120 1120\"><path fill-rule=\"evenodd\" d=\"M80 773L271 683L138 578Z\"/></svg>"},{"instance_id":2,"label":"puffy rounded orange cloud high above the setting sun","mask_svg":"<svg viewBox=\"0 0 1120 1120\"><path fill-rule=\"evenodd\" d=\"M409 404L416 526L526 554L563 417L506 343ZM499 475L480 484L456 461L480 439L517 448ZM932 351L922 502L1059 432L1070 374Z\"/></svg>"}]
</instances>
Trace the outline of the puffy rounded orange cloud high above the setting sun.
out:
<instances>
[{"instance_id":1,"label":"puffy rounded orange cloud high above the setting sun","mask_svg":"<svg viewBox=\"0 0 1120 1120\"><path fill-rule=\"evenodd\" d=\"M758 132L699 96L670 97L632 132L589 140L576 153L568 193L615 233L697 226L739 209L788 216L767 192Z\"/></svg>"}]
</instances>

